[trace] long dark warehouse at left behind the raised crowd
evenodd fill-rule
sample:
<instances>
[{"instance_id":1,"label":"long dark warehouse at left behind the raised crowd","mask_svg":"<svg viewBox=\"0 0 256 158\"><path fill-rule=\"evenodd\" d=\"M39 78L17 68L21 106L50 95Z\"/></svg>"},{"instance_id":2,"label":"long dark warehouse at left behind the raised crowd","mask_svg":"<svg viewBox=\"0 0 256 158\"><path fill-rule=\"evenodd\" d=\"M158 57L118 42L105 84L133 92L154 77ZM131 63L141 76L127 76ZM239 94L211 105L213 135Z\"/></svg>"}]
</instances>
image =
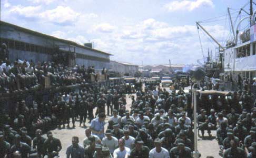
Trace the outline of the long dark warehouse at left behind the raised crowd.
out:
<instances>
[{"instance_id":1,"label":"long dark warehouse at left behind the raised crowd","mask_svg":"<svg viewBox=\"0 0 256 158\"><path fill-rule=\"evenodd\" d=\"M94 66L96 70L110 68L109 53L3 21L0 21L0 42L7 44L10 61L53 61L68 66Z\"/></svg>"}]
</instances>

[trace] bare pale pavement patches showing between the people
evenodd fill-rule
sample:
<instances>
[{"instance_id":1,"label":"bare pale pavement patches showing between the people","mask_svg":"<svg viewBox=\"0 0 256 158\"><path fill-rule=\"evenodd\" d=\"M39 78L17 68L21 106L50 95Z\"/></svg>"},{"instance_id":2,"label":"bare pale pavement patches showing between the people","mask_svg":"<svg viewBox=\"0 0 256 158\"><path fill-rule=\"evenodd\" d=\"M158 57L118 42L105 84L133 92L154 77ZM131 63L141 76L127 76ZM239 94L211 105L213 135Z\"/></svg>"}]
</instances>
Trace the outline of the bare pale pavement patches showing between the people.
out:
<instances>
[{"instance_id":1,"label":"bare pale pavement patches showing between the people","mask_svg":"<svg viewBox=\"0 0 256 158\"><path fill-rule=\"evenodd\" d=\"M130 105L131 105L131 98L127 97L126 108L130 109ZM109 120L109 116L106 117L105 122L107 122L108 120ZM83 144L83 139L85 137L85 133L84 133L85 128L79 127L79 122L76 122L75 125L76 125L75 129L56 129L52 131L53 135L61 140L61 143L62 143L62 150L60 152L61 158L66 157L66 149L69 145L71 145L72 136L78 136L80 140L80 144L81 145ZM86 125L89 126L88 121L86 122ZM107 123L105 125L105 129L106 129L106 126L107 126ZM207 132L205 131L205 133ZM215 136L215 134L216 132L212 131L212 135ZM214 156L214 158L220 157L218 155L219 146L215 139L213 140L198 139L198 150L202 154L201 156L202 158L205 158L206 156Z\"/></svg>"}]
</instances>

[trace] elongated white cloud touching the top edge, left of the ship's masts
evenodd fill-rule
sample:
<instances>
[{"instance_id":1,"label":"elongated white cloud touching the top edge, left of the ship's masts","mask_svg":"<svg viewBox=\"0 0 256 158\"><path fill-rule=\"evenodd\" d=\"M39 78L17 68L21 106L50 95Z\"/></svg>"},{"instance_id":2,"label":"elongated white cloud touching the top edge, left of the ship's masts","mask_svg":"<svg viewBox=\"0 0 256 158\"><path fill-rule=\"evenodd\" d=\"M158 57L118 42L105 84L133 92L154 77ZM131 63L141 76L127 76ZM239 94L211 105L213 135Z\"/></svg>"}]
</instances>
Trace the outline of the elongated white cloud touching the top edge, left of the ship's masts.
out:
<instances>
[{"instance_id":1,"label":"elongated white cloud touching the top edge, left of the ship's masts","mask_svg":"<svg viewBox=\"0 0 256 158\"><path fill-rule=\"evenodd\" d=\"M212 0L181 0L173 1L165 5L165 8L167 8L169 12L193 11L194 9L200 7L214 7L214 4Z\"/></svg>"}]
</instances>

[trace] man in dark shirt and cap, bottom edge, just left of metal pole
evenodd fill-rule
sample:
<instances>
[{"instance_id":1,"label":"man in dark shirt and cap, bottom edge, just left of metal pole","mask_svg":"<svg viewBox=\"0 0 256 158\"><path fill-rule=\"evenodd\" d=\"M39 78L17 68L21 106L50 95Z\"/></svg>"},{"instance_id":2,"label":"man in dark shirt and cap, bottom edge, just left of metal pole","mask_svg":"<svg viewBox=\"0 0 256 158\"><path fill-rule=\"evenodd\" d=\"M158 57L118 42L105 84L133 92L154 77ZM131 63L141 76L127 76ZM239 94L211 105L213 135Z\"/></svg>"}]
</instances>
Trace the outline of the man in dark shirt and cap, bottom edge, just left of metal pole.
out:
<instances>
[{"instance_id":1,"label":"man in dark shirt and cap, bottom edge, just left of metal pole","mask_svg":"<svg viewBox=\"0 0 256 158\"><path fill-rule=\"evenodd\" d=\"M179 142L176 147L173 147L170 150L170 157L171 158L179 158L179 157L192 158L191 149L189 147L185 147L184 142Z\"/></svg>"}]
</instances>

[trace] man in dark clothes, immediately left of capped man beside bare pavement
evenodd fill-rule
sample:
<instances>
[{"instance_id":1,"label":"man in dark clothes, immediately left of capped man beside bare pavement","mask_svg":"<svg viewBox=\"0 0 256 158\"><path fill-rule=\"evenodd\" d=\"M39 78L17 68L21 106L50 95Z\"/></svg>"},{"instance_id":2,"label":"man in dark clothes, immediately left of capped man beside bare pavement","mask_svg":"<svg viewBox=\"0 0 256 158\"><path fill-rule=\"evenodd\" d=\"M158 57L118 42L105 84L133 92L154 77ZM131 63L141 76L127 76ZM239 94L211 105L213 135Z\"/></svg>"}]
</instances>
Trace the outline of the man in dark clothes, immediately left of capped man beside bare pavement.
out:
<instances>
[{"instance_id":1,"label":"man in dark clothes, immediately left of capped man beside bare pavement","mask_svg":"<svg viewBox=\"0 0 256 158\"><path fill-rule=\"evenodd\" d=\"M33 149L36 149L39 157L42 157L44 153L43 144L46 139L42 136L42 131L39 129L36 130L35 135L36 137L33 139Z\"/></svg>"}]
</instances>

